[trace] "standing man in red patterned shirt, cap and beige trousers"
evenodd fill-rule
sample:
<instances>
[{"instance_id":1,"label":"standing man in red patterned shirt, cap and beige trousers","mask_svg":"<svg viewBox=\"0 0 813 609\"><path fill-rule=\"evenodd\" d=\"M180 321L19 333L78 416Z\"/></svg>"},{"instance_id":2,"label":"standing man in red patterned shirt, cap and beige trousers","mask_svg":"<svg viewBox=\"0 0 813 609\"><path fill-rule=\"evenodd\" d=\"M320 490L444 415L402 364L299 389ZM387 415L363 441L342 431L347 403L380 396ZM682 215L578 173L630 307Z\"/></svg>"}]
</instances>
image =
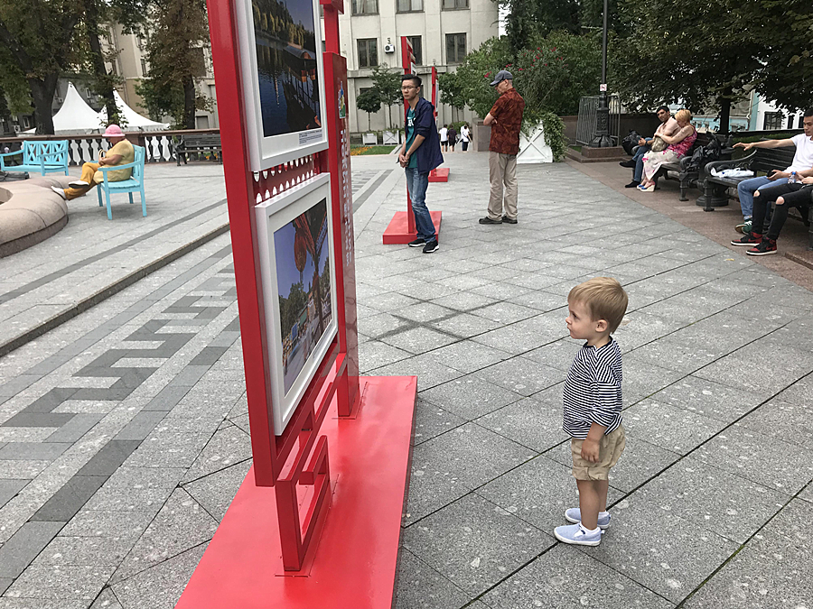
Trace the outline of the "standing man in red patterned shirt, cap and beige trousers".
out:
<instances>
[{"instance_id":1,"label":"standing man in red patterned shirt, cap and beige trousers","mask_svg":"<svg viewBox=\"0 0 813 609\"><path fill-rule=\"evenodd\" d=\"M525 100L514 88L514 77L506 69L500 69L491 83L500 94L483 125L491 125L489 143L489 215L480 218L480 224L517 224L517 153L519 152L519 127ZM505 185L505 200L502 186ZM505 211L503 213L503 206Z\"/></svg>"}]
</instances>

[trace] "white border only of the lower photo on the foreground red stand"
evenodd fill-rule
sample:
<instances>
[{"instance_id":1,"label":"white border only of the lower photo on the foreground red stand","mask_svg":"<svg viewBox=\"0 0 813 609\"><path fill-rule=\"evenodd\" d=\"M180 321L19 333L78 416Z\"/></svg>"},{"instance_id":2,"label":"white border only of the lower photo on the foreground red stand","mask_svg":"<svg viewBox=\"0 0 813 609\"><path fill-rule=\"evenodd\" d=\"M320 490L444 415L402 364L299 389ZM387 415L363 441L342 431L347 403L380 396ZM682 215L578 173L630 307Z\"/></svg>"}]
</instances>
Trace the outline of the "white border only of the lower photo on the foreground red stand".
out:
<instances>
[{"instance_id":1,"label":"white border only of the lower photo on the foreground red stand","mask_svg":"<svg viewBox=\"0 0 813 609\"><path fill-rule=\"evenodd\" d=\"M332 316L330 323L324 330L324 334L313 348L313 353L305 361L302 371L296 377L294 384L291 385L291 389L286 395L274 232L314 205L317 205L322 199L325 200L327 207L328 234L325 237L323 246L327 247L330 253ZM285 426L291 420L296 406L302 400L304 392L313 380L313 375L316 374L319 365L322 364L322 359L327 354L333 337L339 331L336 262L333 255L330 174L321 173L293 189L286 190L281 195L276 195L258 203L255 207L255 214L257 218L257 247L260 258L263 299L265 300L266 309L266 344L271 376L272 415L274 418L274 433L279 436L285 431Z\"/></svg>"}]
</instances>

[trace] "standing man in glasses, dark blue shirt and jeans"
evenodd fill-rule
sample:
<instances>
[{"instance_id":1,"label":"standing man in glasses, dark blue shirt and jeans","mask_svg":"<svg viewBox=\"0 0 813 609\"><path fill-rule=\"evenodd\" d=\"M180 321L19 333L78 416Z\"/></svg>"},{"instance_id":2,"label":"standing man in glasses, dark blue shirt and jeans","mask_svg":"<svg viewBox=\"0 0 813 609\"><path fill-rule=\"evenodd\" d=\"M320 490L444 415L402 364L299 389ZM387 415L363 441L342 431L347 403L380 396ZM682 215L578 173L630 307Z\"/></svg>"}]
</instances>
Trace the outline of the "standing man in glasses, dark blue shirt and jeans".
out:
<instances>
[{"instance_id":1,"label":"standing man in glasses, dark blue shirt and jeans","mask_svg":"<svg viewBox=\"0 0 813 609\"><path fill-rule=\"evenodd\" d=\"M398 162L406 171L406 189L412 199L417 238L410 247L424 248L424 254L437 252L437 232L426 208L426 188L429 171L444 161L440 138L435 126L435 106L420 96L421 79L414 74L401 77L401 94L409 109L406 111L406 142L398 154Z\"/></svg>"}]
</instances>

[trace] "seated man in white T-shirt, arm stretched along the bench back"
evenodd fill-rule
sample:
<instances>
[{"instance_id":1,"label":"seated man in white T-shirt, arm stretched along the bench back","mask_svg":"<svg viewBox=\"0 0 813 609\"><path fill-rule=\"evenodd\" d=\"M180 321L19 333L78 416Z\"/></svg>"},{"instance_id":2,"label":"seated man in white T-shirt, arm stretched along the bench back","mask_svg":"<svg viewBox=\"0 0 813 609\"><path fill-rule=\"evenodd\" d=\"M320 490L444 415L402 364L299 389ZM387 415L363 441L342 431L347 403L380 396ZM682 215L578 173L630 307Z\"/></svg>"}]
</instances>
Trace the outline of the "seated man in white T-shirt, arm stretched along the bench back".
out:
<instances>
[{"instance_id":1,"label":"seated man in white T-shirt, arm stretched along the bench back","mask_svg":"<svg viewBox=\"0 0 813 609\"><path fill-rule=\"evenodd\" d=\"M794 135L786 140L766 140L764 142L738 142L734 148L743 148L746 151L752 148L782 148L783 146L796 146L796 154L793 155L793 162L785 171L773 171L769 176L760 176L743 180L737 184L737 194L740 196L740 208L743 210L743 224L737 226L737 230L745 234L751 232L753 216L753 193L757 189L762 189L762 194L767 195L767 185L786 184L790 178L791 171L805 171L813 165L813 108L805 112L804 117L805 133ZM772 184L771 184L772 182Z\"/></svg>"}]
</instances>

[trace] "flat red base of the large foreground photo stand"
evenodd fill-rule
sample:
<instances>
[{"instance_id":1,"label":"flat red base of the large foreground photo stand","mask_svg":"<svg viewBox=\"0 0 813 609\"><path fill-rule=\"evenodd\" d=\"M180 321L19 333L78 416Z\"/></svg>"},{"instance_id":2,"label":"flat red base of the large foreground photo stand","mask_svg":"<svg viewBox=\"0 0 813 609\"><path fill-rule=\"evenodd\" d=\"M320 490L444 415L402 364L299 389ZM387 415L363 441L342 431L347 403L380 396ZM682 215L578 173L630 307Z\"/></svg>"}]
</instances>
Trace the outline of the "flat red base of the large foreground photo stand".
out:
<instances>
[{"instance_id":1,"label":"flat red base of the large foreground photo stand","mask_svg":"<svg viewBox=\"0 0 813 609\"><path fill-rule=\"evenodd\" d=\"M406 506L415 376L361 377L354 419L335 401L328 437L331 506L304 569L284 573L275 490L248 471L176 609L390 609ZM319 534L317 532L317 534Z\"/></svg>"}]
</instances>

